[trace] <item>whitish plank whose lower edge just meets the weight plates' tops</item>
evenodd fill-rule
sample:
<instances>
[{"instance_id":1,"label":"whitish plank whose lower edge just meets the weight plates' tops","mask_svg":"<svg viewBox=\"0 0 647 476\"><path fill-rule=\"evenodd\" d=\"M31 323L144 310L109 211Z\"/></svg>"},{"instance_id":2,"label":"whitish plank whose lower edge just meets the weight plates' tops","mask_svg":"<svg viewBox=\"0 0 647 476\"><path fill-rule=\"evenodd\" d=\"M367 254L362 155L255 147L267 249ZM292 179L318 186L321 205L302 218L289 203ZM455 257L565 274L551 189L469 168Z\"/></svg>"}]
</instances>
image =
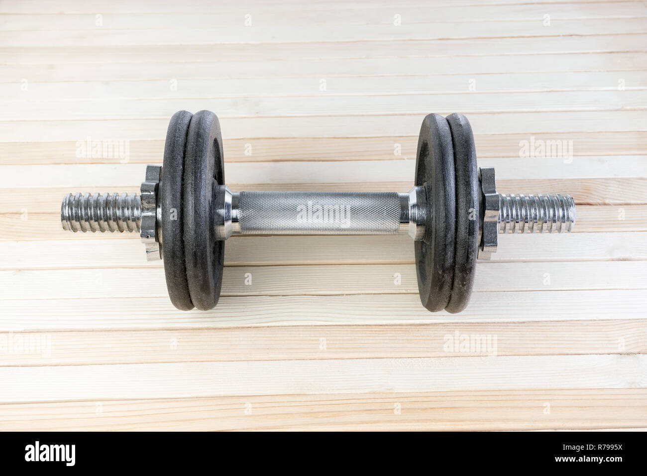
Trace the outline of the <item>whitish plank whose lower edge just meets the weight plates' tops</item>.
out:
<instances>
[{"instance_id":1,"label":"whitish plank whose lower edge just meets the weight plates' tops","mask_svg":"<svg viewBox=\"0 0 647 476\"><path fill-rule=\"evenodd\" d=\"M647 21L646 21L647 23ZM0 100L0 120L4 122L60 120L140 119L171 117L177 110L199 110L201 99L74 99ZM373 96L267 96L256 98L210 98L210 108L223 118L247 117L327 117L428 113L429 95ZM647 89L635 91L555 91L542 93L465 93L433 95L434 107L452 108L466 115L474 113L513 113L515 111L617 111L647 108Z\"/></svg>"}]
</instances>

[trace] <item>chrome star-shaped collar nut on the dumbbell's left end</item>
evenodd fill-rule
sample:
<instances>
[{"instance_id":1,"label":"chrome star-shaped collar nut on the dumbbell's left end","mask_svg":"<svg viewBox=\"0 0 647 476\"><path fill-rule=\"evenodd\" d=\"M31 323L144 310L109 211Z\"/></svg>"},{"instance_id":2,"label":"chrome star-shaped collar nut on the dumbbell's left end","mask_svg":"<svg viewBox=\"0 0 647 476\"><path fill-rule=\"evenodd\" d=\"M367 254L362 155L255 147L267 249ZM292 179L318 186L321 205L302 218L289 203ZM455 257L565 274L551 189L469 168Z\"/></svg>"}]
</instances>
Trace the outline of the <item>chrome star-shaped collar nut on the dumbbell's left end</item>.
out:
<instances>
[{"instance_id":1,"label":"chrome star-shaped collar nut on the dumbbell's left end","mask_svg":"<svg viewBox=\"0 0 647 476\"><path fill-rule=\"evenodd\" d=\"M160 223L157 220L157 190L162 178L162 167L146 166L146 179L139 188L139 199L142 206L142 218L139 236L146 246L146 260L162 259L162 240Z\"/></svg>"}]
</instances>

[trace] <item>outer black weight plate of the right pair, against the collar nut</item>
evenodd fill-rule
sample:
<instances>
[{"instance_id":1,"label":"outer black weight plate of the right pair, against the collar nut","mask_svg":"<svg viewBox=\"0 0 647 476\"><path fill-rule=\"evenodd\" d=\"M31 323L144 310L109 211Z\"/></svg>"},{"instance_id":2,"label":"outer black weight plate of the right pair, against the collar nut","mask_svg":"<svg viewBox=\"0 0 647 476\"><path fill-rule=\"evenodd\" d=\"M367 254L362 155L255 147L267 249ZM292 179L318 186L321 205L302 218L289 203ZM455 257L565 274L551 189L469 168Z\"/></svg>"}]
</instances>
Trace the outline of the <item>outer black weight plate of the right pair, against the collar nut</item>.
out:
<instances>
[{"instance_id":1,"label":"outer black weight plate of the right pair, against the collar nut","mask_svg":"<svg viewBox=\"0 0 647 476\"><path fill-rule=\"evenodd\" d=\"M451 313L467 307L476 275L479 247L479 177L474 135L467 118L459 113L446 117L452 131L456 172L456 254L454 285L445 308Z\"/></svg>"}]
</instances>

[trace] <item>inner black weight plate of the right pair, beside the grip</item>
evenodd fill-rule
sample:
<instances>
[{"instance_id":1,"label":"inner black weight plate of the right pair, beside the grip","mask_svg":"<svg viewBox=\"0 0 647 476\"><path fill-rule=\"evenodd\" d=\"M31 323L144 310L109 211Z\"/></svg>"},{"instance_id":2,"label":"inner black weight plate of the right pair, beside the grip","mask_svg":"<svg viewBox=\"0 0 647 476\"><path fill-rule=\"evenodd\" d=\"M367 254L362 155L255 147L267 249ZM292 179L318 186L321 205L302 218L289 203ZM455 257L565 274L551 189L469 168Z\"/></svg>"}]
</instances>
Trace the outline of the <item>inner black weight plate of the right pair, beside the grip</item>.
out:
<instances>
[{"instance_id":1,"label":"inner black weight plate of the right pair, beside the grip","mask_svg":"<svg viewBox=\"0 0 647 476\"><path fill-rule=\"evenodd\" d=\"M454 148L449 124L430 114L422 121L415 162L415 185L424 185L427 221L424 240L417 241L415 264L422 305L435 312L450 299L454 278L455 185Z\"/></svg>"}]
</instances>

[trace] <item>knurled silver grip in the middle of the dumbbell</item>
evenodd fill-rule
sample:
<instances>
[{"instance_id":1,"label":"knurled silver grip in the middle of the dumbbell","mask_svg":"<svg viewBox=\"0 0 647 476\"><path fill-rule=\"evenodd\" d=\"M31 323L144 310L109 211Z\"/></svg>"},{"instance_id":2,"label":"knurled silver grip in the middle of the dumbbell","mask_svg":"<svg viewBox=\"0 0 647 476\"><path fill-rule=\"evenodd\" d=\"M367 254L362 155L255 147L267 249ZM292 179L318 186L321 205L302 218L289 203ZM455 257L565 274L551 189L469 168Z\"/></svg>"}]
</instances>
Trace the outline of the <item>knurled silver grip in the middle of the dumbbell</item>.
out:
<instances>
[{"instance_id":1,"label":"knurled silver grip in the middle of the dumbbell","mask_svg":"<svg viewBox=\"0 0 647 476\"><path fill-rule=\"evenodd\" d=\"M406 233L408 194L239 192L239 234Z\"/></svg>"}]
</instances>

